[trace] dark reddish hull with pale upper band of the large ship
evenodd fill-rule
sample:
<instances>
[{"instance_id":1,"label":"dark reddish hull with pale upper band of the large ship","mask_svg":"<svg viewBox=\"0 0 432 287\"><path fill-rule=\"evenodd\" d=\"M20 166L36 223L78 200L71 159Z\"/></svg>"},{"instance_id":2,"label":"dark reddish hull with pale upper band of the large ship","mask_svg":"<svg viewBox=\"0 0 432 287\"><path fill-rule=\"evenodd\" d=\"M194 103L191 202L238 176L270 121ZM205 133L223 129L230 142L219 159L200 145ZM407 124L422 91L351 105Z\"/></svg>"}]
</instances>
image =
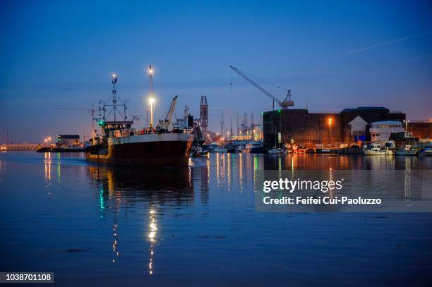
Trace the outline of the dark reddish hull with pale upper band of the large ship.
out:
<instances>
[{"instance_id":1,"label":"dark reddish hull with pale upper band of the large ship","mask_svg":"<svg viewBox=\"0 0 432 287\"><path fill-rule=\"evenodd\" d=\"M121 166L187 166L193 135L150 134L109 138L107 154L86 153L88 161Z\"/></svg>"}]
</instances>

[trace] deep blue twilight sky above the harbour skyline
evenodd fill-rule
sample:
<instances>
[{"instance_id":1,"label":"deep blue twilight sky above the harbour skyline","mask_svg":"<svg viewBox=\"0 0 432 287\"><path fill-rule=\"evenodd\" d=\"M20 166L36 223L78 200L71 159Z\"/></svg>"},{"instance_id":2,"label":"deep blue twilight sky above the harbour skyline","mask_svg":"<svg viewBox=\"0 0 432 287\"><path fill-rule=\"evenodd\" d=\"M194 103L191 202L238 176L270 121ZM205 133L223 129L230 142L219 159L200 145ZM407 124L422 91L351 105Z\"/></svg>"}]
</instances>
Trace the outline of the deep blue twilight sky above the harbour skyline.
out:
<instances>
[{"instance_id":1,"label":"deep blue twilight sky above the harbour skyline","mask_svg":"<svg viewBox=\"0 0 432 287\"><path fill-rule=\"evenodd\" d=\"M90 134L90 108L111 92L143 115L155 67L156 118L176 114L210 129L272 101L229 65L292 89L295 107L385 106L432 118L431 1L1 1L0 142ZM232 83L230 89L229 83ZM284 90L265 85L276 97ZM250 118L249 118L250 121Z\"/></svg>"}]
</instances>

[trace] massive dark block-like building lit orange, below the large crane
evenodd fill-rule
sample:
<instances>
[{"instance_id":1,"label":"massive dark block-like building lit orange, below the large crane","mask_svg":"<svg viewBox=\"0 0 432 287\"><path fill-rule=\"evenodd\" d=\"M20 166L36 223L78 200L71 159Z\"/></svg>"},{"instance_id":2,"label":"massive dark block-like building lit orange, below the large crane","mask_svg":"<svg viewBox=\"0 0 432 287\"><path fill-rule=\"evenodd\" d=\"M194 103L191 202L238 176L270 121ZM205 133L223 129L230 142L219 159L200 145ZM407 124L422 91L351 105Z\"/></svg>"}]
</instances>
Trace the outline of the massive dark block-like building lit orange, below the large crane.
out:
<instances>
[{"instance_id":1,"label":"massive dark block-like building lit orange, below the large crane","mask_svg":"<svg viewBox=\"0 0 432 287\"><path fill-rule=\"evenodd\" d=\"M340 113L309 113L307 109L279 109L263 113L263 140L267 148L294 142L304 147L339 147L371 140L371 123L405 120L402 112L382 106L344 109Z\"/></svg>"}]
</instances>

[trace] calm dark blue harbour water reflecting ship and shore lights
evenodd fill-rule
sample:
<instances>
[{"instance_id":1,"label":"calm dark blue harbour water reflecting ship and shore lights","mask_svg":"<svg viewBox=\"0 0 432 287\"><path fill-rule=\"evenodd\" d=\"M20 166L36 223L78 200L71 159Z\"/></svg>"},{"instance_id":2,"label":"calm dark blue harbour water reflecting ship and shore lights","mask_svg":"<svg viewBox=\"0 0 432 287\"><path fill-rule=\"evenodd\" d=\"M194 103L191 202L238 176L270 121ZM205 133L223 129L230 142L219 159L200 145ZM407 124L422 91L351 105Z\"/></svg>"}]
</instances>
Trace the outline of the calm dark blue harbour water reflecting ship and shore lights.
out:
<instances>
[{"instance_id":1,"label":"calm dark blue harbour water reflecting ship and shore lights","mask_svg":"<svg viewBox=\"0 0 432 287\"><path fill-rule=\"evenodd\" d=\"M258 213L263 169L431 169L421 157L211 154L113 169L82 154L0 154L1 271L67 286L427 284L431 214Z\"/></svg>"}]
</instances>

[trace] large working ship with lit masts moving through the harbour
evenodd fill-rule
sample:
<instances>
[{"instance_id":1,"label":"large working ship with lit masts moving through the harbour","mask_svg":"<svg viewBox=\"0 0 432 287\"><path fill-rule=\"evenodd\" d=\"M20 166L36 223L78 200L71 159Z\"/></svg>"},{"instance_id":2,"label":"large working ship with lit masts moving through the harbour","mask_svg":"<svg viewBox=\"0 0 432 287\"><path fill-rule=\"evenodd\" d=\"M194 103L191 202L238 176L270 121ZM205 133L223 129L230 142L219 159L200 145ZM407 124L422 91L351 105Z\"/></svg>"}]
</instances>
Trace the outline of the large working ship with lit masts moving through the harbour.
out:
<instances>
[{"instance_id":1,"label":"large working ship with lit masts moving through the harbour","mask_svg":"<svg viewBox=\"0 0 432 287\"><path fill-rule=\"evenodd\" d=\"M152 94L150 66L150 96ZM85 157L96 164L121 166L188 166L193 128L171 126L177 96L164 120L152 123L154 100L150 100L150 126L133 128L138 116L126 116L126 101L116 95L117 75L112 75L112 96L100 101L100 116L95 118L100 133L92 139ZM123 112L122 112L123 109Z\"/></svg>"}]
</instances>

